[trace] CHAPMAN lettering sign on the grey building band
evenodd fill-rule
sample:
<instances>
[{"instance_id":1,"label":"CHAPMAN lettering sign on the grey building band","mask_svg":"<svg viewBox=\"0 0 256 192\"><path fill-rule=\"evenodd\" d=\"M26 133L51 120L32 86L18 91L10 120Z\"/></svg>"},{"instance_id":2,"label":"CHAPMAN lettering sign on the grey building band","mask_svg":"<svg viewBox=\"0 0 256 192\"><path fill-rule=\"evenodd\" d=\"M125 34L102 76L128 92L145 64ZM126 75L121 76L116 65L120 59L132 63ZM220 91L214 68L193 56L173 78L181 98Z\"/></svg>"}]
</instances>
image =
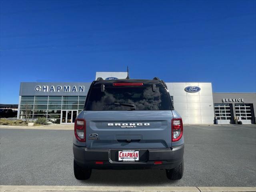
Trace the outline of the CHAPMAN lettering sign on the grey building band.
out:
<instances>
[{"instance_id":1,"label":"CHAPMAN lettering sign on the grey building band","mask_svg":"<svg viewBox=\"0 0 256 192\"><path fill-rule=\"evenodd\" d=\"M84 86L35 86L36 92L84 92Z\"/></svg>"}]
</instances>

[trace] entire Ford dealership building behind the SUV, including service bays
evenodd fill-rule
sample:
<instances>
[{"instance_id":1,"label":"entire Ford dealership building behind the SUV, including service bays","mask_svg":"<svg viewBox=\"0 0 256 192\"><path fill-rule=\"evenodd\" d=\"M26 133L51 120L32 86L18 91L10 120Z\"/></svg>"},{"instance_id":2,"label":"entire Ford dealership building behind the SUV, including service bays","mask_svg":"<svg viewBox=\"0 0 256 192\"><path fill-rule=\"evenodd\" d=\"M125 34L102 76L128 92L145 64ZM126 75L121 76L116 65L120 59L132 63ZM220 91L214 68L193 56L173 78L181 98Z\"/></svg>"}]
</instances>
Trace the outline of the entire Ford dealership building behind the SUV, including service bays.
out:
<instances>
[{"instance_id":1,"label":"entire Ford dealership building behind the SUV, including service bays","mask_svg":"<svg viewBox=\"0 0 256 192\"><path fill-rule=\"evenodd\" d=\"M124 79L127 72L96 72L96 79ZM18 119L45 117L72 124L83 110L91 82L21 82ZM215 93L210 82L166 82L184 124L255 124L256 93Z\"/></svg>"}]
</instances>

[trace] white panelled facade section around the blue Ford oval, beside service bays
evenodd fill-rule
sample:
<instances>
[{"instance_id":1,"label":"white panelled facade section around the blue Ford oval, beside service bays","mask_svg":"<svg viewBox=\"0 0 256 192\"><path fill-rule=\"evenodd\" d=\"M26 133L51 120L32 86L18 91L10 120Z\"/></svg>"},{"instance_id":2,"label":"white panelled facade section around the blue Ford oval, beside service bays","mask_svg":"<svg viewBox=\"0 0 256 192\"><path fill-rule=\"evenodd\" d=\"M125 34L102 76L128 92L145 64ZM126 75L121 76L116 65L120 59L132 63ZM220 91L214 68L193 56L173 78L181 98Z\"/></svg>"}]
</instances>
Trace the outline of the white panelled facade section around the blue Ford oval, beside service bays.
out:
<instances>
[{"instance_id":1,"label":"white panelled facade section around the blue Ford oval, beside service bays","mask_svg":"<svg viewBox=\"0 0 256 192\"><path fill-rule=\"evenodd\" d=\"M182 116L184 124L213 124L214 105L211 83L166 83L174 108ZM197 86L200 91L186 92L188 86Z\"/></svg>"}]
</instances>

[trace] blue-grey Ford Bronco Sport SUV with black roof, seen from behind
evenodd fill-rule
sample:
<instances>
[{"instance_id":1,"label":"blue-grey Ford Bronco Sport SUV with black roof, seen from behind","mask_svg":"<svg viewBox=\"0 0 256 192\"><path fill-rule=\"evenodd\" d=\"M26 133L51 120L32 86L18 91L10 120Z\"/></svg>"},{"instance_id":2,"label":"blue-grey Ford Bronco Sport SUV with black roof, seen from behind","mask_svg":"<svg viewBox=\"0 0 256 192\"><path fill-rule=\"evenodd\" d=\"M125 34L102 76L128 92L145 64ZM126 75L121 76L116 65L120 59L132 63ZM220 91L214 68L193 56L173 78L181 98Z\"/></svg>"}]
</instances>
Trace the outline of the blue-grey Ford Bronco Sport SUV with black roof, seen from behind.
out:
<instances>
[{"instance_id":1,"label":"blue-grey Ford Bronco Sport SUV with black roof, seen from behind","mask_svg":"<svg viewBox=\"0 0 256 192\"><path fill-rule=\"evenodd\" d=\"M92 82L78 114L73 139L74 176L90 178L92 169L166 169L182 178L182 118L166 84L153 80Z\"/></svg>"}]
</instances>

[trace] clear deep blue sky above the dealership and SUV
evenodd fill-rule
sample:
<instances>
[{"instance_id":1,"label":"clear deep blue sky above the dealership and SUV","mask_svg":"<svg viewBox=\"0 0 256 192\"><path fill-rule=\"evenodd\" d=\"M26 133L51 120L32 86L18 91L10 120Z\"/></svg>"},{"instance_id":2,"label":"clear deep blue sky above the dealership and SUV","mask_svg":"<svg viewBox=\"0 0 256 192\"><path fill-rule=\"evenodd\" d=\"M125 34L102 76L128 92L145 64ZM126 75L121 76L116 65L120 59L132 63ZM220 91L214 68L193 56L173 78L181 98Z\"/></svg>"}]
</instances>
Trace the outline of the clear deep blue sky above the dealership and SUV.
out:
<instances>
[{"instance_id":1,"label":"clear deep blue sky above the dealership and SUV","mask_svg":"<svg viewBox=\"0 0 256 192\"><path fill-rule=\"evenodd\" d=\"M0 0L0 103L20 82L131 78L256 92L256 1Z\"/></svg>"}]
</instances>

